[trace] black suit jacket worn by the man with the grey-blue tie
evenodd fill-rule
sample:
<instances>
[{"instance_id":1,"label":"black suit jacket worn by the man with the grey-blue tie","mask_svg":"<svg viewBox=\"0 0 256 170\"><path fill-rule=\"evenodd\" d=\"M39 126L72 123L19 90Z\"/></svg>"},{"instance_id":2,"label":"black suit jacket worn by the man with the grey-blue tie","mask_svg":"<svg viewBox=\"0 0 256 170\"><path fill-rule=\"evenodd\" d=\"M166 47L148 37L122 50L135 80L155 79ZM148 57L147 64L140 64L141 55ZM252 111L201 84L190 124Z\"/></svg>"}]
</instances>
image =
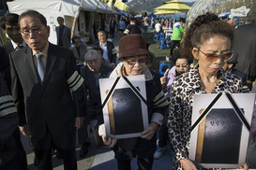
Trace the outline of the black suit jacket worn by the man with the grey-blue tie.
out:
<instances>
[{"instance_id":1,"label":"black suit jacket worn by the man with the grey-blue tie","mask_svg":"<svg viewBox=\"0 0 256 170\"><path fill-rule=\"evenodd\" d=\"M31 135L37 138L44 137L48 130L54 137L73 131L75 117L84 116L86 111L83 78L76 71L73 52L49 43L42 85L29 47L11 53L10 65L20 125L27 123Z\"/></svg>"}]
</instances>

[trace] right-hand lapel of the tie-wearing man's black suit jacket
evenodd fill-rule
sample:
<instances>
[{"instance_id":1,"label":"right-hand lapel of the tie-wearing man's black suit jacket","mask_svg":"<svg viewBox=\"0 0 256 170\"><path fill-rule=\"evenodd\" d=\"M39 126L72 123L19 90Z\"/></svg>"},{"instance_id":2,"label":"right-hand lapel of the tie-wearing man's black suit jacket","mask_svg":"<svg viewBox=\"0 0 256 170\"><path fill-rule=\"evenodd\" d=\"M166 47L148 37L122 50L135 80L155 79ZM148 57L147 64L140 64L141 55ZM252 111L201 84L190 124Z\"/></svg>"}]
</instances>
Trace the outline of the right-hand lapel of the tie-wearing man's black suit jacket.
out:
<instances>
[{"instance_id":1,"label":"right-hand lapel of the tie-wearing man's black suit jacket","mask_svg":"<svg viewBox=\"0 0 256 170\"><path fill-rule=\"evenodd\" d=\"M46 84L48 83L48 79L50 78L52 71L53 71L53 65L55 64L57 56L55 55L56 51L51 43L49 43L49 50L47 52L47 62L46 62L46 68L44 71L44 78L43 78L43 84L42 84L42 90L44 91Z\"/></svg>"}]
</instances>

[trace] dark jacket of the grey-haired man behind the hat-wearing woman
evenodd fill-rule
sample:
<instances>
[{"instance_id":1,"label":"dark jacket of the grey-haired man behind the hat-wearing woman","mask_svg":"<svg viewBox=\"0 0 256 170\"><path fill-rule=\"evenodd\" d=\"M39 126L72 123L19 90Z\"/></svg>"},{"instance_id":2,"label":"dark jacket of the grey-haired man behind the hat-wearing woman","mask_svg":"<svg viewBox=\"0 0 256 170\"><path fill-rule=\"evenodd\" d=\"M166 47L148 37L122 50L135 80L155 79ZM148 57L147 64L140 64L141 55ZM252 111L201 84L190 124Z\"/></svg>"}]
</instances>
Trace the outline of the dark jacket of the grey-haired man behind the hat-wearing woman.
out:
<instances>
[{"instance_id":1,"label":"dark jacket of the grey-haired man behind the hat-wearing woman","mask_svg":"<svg viewBox=\"0 0 256 170\"><path fill-rule=\"evenodd\" d=\"M113 71L113 67L101 64L99 78L109 78ZM83 65L80 69L81 76L86 79L83 81L83 94L84 98L87 99L87 113L97 112L97 116L102 112L101 99L99 89L96 86L96 78L94 73L88 68L87 65Z\"/></svg>"}]
</instances>

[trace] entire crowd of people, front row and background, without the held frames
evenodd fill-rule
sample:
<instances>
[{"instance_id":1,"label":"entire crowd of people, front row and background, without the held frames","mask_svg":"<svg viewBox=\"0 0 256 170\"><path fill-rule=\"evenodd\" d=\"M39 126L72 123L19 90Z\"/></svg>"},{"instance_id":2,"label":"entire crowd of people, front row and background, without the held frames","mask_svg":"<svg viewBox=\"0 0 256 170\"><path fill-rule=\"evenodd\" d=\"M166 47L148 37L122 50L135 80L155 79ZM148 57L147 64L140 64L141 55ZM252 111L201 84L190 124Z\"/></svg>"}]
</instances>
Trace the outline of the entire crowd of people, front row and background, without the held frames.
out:
<instances>
[{"instance_id":1,"label":"entire crowd of people, front row and background, without the held frames","mask_svg":"<svg viewBox=\"0 0 256 170\"><path fill-rule=\"evenodd\" d=\"M89 46L79 36L70 37L62 17L57 21L57 45L53 45L48 41L50 27L38 11L27 10L20 16L9 13L1 19L10 42L0 47L0 169L27 169L21 131L31 143L38 169L53 169L54 150L65 169L76 170L76 133L82 146L80 157L84 158L93 142L87 130L90 120L98 121L98 135L113 149L120 170L131 169L134 157L139 169L152 169L168 140L173 169L203 168L188 159L194 94L249 92L247 79L255 80L253 64L247 74L235 69L244 53L233 49L237 46L233 25L211 13L197 17L187 28L185 19L174 23L174 66L159 78L150 69L154 54L148 50L137 19L120 18L117 23L113 17L110 21L112 38L118 26L119 51L104 31L99 31L98 42ZM170 24L143 17L144 33L149 25L160 32L162 25ZM255 30L255 24L252 26ZM252 41L255 37L248 43ZM179 50L173 51L175 47ZM139 137L113 139L106 134L98 79L137 75L145 79L148 127ZM251 92L255 91L256 85ZM240 164L244 169L256 168L256 106L248 141L247 160Z\"/></svg>"}]
</instances>

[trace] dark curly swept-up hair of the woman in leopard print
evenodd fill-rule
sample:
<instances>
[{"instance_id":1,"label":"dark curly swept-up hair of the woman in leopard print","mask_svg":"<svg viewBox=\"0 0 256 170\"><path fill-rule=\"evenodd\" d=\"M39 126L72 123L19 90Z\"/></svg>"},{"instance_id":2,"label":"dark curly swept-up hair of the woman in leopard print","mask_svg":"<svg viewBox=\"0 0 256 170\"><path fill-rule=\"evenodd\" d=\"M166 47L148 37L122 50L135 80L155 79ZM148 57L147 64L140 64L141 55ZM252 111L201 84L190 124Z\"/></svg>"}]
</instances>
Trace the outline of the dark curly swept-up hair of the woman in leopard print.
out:
<instances>
[{"instance_id":1,"label":"dark curly swept-up hair of the woman in leopard print","mask_svg":"<svg viewBox=\"0 0 256 170\"><path fill-rule=\"evenodd\" d=\"M180 53L182 56L190 56L193 48L200 48L205 40L214 35L228 37L233 43L233 31L232 25L226 21L220 21L215 14L207 13L198 16L186 31L180 46Z\"/></svg>"}]
</instances>

